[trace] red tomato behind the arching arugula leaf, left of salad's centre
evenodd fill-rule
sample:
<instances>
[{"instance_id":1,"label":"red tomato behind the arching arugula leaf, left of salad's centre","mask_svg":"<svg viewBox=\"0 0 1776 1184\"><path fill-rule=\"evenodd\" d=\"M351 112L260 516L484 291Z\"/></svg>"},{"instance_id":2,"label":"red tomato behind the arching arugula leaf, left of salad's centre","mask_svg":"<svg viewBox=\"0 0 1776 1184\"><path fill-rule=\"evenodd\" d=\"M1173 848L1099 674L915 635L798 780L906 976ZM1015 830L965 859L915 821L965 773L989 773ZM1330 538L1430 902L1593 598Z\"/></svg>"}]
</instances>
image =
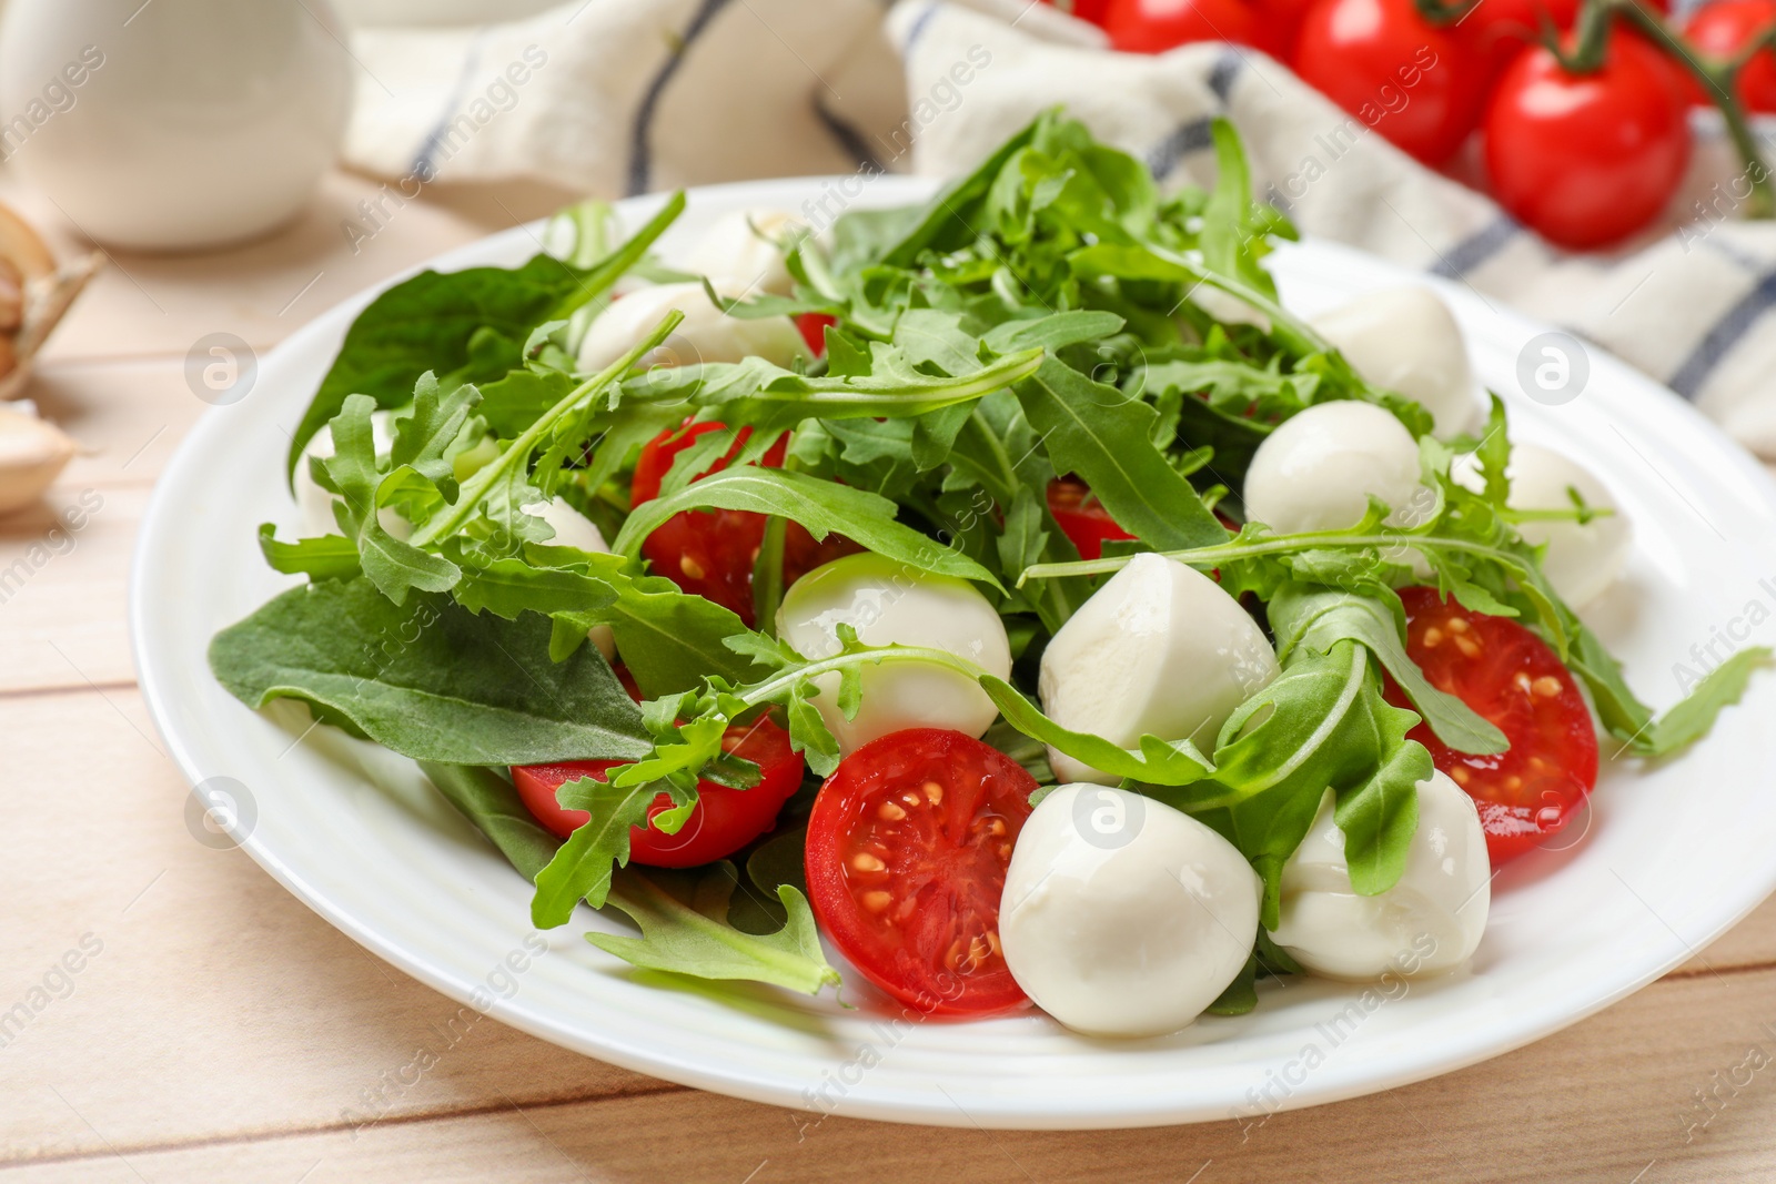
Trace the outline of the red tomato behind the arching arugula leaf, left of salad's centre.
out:
<instances>
[{"instance_id":1,"label":"red tomato behind the arching arugula leaf, left of salad's centre","mask_svg":"<svg viewBox=\"0 0 1776 1184\"><path fill-rule=\"evenodd\" d=\"M636 460L636 476L629 486L630 506L659 497L661 481L671 470L673 458L709 431L726 431L726 428L714 422L689 424L662 431L650 440ZM733 447L700 476L707 478L726 469L751 433L751 428L741 428ZM778 440L760 463L767 469L781 467L785 449L787 438ZM758 559L764 538L764 515L742 509L687 509L648 534L641 543L641 554L654 564L655 573L687 593L732 609L751 627L753 563ZM822 563L852 550L854 543L833 534L817 543L808 531L790 522L783 531L783 582L794 584Z\"/></svg>"}]
</instances>

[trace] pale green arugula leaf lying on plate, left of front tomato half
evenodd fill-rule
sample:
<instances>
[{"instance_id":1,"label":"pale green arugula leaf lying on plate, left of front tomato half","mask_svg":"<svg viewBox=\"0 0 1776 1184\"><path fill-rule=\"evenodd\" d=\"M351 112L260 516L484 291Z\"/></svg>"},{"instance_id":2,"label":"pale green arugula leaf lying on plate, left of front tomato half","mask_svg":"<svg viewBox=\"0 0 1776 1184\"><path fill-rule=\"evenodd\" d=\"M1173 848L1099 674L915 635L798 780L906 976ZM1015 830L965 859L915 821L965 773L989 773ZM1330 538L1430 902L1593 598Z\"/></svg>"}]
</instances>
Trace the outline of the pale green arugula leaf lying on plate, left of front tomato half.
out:
<instances>
[{"instance_id":1,"label":"pale green arugula leaf lying on plate, left of front tomato half","mask_svg":"<svg viewBox=\"0 0 1776 1184\"><path fill-rule=\"evenodd\" d=\"M694 879L693 879L694 877ZM789 920L774 934L744 934L728 921L739 875L721 861L702 873L652 872L618 880L611 904L641 927L641 937L586 934L606 953L655 971L696 978L746 978L803 994L836 987L826 962L808 898L796 888L776 889Z\"/></svg>"}]
</instances>

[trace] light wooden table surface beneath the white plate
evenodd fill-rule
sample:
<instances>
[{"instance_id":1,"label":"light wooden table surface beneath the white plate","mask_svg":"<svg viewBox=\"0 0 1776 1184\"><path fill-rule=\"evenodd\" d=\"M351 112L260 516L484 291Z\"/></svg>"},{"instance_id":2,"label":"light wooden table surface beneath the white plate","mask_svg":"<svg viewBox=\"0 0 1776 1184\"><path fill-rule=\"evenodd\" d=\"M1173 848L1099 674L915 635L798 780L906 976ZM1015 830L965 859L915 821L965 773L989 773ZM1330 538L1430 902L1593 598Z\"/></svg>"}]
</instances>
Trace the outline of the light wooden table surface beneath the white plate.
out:
<instances>
[{"instance_id":1,"label":"light wooden table surface beneath the white plate","mask_svg":"<svg viewBox=\"0 0 1776 1184\"><path fill-rule=\"evenodd\" d=\"M1233 1122L1032 1134L854 1120L799 1138L790 1111L494 1021L398 1081L456 1005L247 856L192 838L124 627L137 522L206 410L183 373L194 341L227 330L265 350L366 284L563 197L456 190L398 211L353 254L339 224L373 190L334 176L300 222L236 250L117 256L30 391L85 451L41 508L0 520L0 570L44 543L55 509L82 493L101 506L0 596L0 1012L50 989L0 1047L0 1184L1776 1179L1776 902L1561 1035L1245 1138ZM80 243L53 208L0 192ZM52 973L69 953L80 971ZM359 1129L378 1093L387 1115Z\"/></svg>"}]
</instances>

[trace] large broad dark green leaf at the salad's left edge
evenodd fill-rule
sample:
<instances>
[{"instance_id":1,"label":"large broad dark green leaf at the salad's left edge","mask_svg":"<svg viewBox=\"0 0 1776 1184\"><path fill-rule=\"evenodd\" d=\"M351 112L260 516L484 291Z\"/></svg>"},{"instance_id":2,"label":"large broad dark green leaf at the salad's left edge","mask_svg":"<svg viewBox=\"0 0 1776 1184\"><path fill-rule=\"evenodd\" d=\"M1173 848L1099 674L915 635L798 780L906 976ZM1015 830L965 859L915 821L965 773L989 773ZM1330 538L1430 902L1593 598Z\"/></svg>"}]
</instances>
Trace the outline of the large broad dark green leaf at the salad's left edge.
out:
<instances>
[{"instance_id":1,"label":"large broad dark green leaf at the salad's left edge","mask_svg":"<svg viewBox=\"0 0 1776 1184\"><path fill-rule=\"evenodd\" d=\"M636 760L641 714L590 646L549 660L549 625L474 616L446 596L389 602L366 579L304 584L210 643L252 708L304 699L325 722L451 765Z\"/></svg>"}]
</instances>

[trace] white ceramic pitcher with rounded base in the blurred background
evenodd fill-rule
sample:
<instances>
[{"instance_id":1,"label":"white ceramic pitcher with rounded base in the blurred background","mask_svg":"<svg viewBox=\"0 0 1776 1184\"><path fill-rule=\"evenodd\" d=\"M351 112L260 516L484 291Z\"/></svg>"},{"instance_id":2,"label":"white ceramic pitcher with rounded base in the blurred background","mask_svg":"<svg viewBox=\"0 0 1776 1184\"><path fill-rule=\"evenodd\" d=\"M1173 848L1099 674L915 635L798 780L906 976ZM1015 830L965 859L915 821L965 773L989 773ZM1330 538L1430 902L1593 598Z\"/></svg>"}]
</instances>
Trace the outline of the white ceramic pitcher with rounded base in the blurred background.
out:
<instances>
[{"instance_id":1,"label":"white ceramic pitcher with rounded base in the blurred background","mask_svg":"<svg viewBox=\"0 0 1776 1184\"><path fill-rule=\"evenodd\" d=\"M327 0L9 0L0 158L105 243L263 234L337 153L343 39Z\"/></svg>"}]
</instances>

